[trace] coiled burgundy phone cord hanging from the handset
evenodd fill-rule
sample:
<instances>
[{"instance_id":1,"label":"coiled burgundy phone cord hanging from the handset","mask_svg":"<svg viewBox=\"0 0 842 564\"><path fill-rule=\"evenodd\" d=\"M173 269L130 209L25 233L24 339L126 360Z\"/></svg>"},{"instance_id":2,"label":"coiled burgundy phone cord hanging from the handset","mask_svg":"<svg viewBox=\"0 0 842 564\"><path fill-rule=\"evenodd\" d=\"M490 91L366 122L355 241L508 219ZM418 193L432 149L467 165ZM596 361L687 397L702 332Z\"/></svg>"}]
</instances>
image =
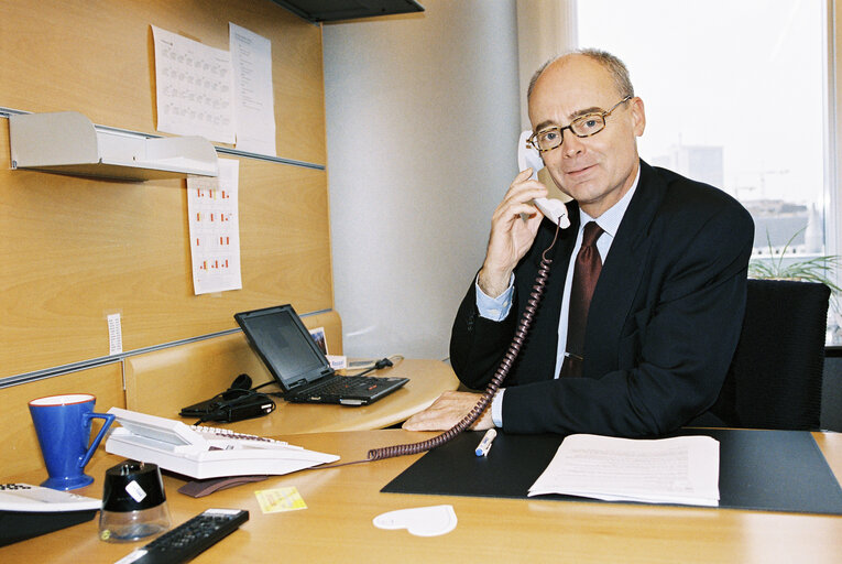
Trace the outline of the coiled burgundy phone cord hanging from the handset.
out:
<instances>
[{"instance_id":1,"label":"coiled burgundy phone cord hanging from the handset","mask_svg":"<svg viewBox=\"0 0 842 564\"><path fill-rule=\"evenodd\" d=\"M485 391L482 393L482 397L473 406L473 409L464 417L462 417L459 423L445 431L440 435L434 436L433 438L428 438L426 441L422 441L419 443L408 443L403 445L385 446L382 448L372 448L369 451L365 462L382 460L384 458L392 458L395 456L405 456L430 451L437 446L444 445L448 441L451 441L459 433L471 426L471 424L475 422L480 415L482 415L482 412L485 411L485 409L489 406L491 400L494 399L494 394L500 389L503 380L505 380L506 376L509 376L509 371L512 369L512 365L514 365L517 355L521 352L521 347L523 346L523 343L526 339L526 335L529 332L533 318L535 317L535 312L538 308L538 303L540 302L540 299L544 295L544 290L547 285L547 279L549 278L549 265L553 263L553 259L547 258L547 253L556 245L559 229L560 226L556 225L556 235L553 237L553 242L542 253L540 265L538 267L538 275L535 276L535 283L533 285L532 293L529 294L529 300L527 301L523 315L517 323L517 328L515 329L515 335L512 339L512 344L509 346L509 350L506 350L506 354L503 356L503 360L500 362L496 372L494 372L494 377L489 382L488 388L485 388Z\"/></svg>"}]
</instances>

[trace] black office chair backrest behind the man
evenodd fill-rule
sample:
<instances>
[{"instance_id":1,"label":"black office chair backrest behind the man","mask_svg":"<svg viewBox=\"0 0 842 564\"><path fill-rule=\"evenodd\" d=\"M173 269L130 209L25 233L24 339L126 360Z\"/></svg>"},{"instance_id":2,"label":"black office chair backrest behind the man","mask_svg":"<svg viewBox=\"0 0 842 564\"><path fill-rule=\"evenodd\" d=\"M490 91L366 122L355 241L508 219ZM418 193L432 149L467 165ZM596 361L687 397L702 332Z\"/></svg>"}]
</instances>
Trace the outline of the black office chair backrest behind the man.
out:
<instances>
[{"instance_id":1,"label":"black office chair backrest behind the man","mask_svg":"<svg viewBox=\"0 0 842 564\"><path fill-rule=\"evenodd\" d=\"M748 280L743 330L711 412L724 426L817 430L830 289Z\"/></svg>"}]
</instances>

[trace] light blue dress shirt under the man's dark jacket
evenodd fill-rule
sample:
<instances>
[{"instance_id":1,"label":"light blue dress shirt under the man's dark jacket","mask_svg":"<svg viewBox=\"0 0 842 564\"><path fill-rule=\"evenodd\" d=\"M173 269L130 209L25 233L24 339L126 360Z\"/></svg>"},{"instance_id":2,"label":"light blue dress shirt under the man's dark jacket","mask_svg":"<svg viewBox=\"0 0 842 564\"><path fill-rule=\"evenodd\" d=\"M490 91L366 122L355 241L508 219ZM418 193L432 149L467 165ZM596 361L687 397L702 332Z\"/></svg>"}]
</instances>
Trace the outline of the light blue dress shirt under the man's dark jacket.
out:
<instances>
[{"instance_id":1,"label":"light blue dress shirt under the man's dark jacket","mask_svg":"<svg viewBox=\"0 0 842 564\"><path fill-rule=\"evenodd\" d=\"M611 249L611 243L614 242L614 237L616 236L616 231L620 228L620 223L623 220L623 216L625 215L626 209L628 209L628 203L632 200L632 196L634 196L635 191L637 189L637 182L641 180L641 169L637 169L637 176L634 180L634 184L632 184L632 187L628 192L623 195L623 197L611 206L608 210L605 210L604 214L602 214L599 218L593 219L588 214L579 209L579 217L581 218L581 221L579 223L579 232L576 236L576 245L573 247L573 252L571 257L576 257L579 252L579 249L582 246L582 234L584 231L584 226L588 224L588 221L597 221L597 225L599 225L602 230L604 231L599 239L597 239L597 249L600 252L600 258L602 259L602 262L605 262L605 258L608 257L609 249ZM570 264L567 269L567 278L565 279L567 282L565 283L565 293L561 297L561 314L559 317L558 323L558 348L557 348L557 355L556 355L556 378L558 378L558 372L561 370L561 364L565 360L565 348L567 347L567 318L570 311L570 284L569 282L573 278L573 267L576 265L576 261L571 260ZM479 278L479 276L478 276ZM482 317L485 317L491 321L502 321L505 319L509 315L509 312L512 307L512 294L514 292L514 274L512 274L512 278L509 281L509 288L499 296L491 297L486 295L482 290L480 290L480 285L478 282L474 282L474 288L477 292L477 308L480 312L480 315ZM540 307L540 306L538 306ZM496 395L494 397L494 400L491 403L491 419L494 422L494 425L502 427L503 426L503 393L505 392L505 389L501 389Z\"/></svg>"}]
</instances>

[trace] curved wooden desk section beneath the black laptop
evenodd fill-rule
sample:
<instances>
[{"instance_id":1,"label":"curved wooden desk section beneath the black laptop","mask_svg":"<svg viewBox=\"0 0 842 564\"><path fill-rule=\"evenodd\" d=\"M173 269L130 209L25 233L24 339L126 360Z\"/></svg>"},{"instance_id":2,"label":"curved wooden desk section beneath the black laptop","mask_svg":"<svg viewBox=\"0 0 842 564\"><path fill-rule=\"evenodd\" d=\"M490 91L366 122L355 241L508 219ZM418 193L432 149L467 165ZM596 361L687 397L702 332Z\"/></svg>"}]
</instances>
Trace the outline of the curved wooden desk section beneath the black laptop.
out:
<instances>
[{"instance_id":1,"label":"curved wooden desk section beneath the black laptop","mask_svg":"<svg viewBox=\"0 0 842 564\"><path fill-rule=\"evenodd\" d=\"M456 390L459 387L459 380L453 370L440 360L404 359L392 368L378 370L375 376L406 377L409 381L400 390L371 405L287 403L275 398L277 408L267 416L225 424L208 422L207 425L261 436L370 431L401 423L409 415L427 408L444 391ZM272 389L267 387L265 390ZM183 421L192 424L195 419Z\"/></svg>"}]
</instances>

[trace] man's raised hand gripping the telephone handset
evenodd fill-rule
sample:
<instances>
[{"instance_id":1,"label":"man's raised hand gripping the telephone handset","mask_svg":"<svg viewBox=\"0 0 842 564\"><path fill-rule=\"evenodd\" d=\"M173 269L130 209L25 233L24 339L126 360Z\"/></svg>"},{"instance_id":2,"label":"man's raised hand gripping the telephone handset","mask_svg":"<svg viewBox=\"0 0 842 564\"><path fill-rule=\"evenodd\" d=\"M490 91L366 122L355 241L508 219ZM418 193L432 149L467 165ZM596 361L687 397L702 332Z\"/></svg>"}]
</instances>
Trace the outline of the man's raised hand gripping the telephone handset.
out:
<instances>
[{"instance_id":1,"label":"man's raised hand gripping the telephone handset","mask_svg":"<svg viewBox=\"0 0 842 564\"><path fill-rule=\"evenodd\" d=\"M531 175L532 169L526 169L515 176L491 218L489 248L478 279L480 289L491 297L509 288L512 271L532 247L544 217L531 202L546 197L547 187L531 181Z\"/></svg>"}]
</instances>

